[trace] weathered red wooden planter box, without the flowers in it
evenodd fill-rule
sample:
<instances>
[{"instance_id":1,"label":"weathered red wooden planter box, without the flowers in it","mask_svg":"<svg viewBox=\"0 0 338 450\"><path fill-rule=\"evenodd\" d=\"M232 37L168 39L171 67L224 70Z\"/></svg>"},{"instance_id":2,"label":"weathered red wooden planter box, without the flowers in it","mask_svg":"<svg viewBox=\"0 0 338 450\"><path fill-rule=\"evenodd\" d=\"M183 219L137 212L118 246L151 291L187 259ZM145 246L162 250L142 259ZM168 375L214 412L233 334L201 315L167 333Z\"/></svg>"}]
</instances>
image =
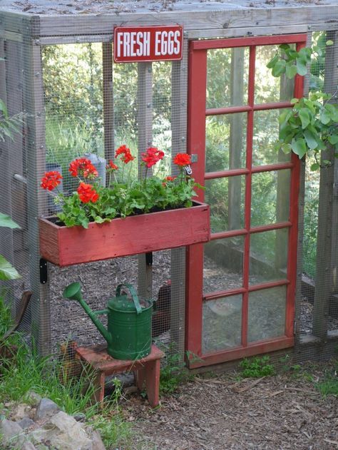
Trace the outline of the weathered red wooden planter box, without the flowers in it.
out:
<instances>
[{"instance_id":1,"label":"weathered red wooden planter box, without the flowers in it","mask_svg":"<svg viewBox=\"0 0 338 450\"><path fill-rule=\"evenodd\" d=\"M210 240L209 205L198 202L191 208L90 223L87 229L58 226L51 219L39 219L40 254L60 267Z\"/></svg>"}]
</instances>

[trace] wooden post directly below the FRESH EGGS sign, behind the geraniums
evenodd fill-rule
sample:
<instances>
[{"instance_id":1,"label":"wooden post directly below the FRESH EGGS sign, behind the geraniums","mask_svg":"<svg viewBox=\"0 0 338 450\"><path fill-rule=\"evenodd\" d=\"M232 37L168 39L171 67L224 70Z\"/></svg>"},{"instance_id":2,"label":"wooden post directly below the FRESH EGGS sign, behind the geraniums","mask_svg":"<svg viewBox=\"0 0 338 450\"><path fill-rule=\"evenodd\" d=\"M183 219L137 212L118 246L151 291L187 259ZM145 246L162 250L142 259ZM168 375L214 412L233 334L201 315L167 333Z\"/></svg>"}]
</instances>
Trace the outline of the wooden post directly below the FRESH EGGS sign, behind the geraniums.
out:
<instances>
[{"instance_id":1,"label":"wooden post directly below the FRESH EGGS sign, behind the geraniums","mask_svg":"<svg viewBox=\"0 0 338 450\"><path fill-rule=\"evenodd\" d=\"M152 63L138 63L138 166L140 155L153 140L153 68ZM142 172L141 172L142 170ZM149 173L149 170L148 170ZM139 177L145 171L140 169ZM150 175L150 173L149 173ZM138 293L150 298L153 295L153 268L151 258L138 256ZM148 263L147 263L148 262Z\"/></svg>"}]
</instances>

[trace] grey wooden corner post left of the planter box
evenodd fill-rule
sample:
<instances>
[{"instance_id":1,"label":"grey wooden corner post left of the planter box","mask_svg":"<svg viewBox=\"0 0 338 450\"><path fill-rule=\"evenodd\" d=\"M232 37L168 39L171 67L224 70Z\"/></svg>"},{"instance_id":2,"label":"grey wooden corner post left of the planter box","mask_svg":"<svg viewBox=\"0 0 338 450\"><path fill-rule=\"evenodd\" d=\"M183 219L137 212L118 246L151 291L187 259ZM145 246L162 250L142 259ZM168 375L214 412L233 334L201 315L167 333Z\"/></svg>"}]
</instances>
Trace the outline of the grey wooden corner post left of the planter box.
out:
<instances>
[{"instance_id":1,"label":"grey wooden corner post left of the planter box","mask_svg":"<svg viewBox=\"0 0 338 450\"><path fill-rule=\"evenodd\" d=\"M26 24L30 25L27 21ZM40 282L39 215L47 213L46 193L39 180L46 170L45 108L43 104L43 78L41 47L35 45L27 26L24 45L24 103L29 113L27 138L27 198L29 199L29 277L33 296L31 299L31 326L34 344L42 355L51 352L51 311L48 299L48 282Z\"/></svg>"}]
</instances>

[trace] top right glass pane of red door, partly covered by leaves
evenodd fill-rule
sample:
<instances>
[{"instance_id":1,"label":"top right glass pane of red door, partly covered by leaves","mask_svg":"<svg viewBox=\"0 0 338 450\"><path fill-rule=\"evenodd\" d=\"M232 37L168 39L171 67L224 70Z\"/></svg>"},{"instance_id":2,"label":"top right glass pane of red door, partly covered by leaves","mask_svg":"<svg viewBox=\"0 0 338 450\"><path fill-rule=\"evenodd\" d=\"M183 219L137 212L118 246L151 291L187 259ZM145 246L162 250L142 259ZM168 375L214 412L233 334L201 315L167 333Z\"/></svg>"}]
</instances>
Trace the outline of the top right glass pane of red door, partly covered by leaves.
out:
<instances>
[{"instance_id":1,"label":"top right glass pane of red door, partly covered by leaves","mask_svg":"<svg viewBox=\"0 0 338 450\"><path fill-rule=\"evenodd\" d=\"M275 103L288 101L293 97L294 79L286 76L272 76L267 63L272 59L278 46L256 47L255 103Z\"/></svg>"}]
</instances>

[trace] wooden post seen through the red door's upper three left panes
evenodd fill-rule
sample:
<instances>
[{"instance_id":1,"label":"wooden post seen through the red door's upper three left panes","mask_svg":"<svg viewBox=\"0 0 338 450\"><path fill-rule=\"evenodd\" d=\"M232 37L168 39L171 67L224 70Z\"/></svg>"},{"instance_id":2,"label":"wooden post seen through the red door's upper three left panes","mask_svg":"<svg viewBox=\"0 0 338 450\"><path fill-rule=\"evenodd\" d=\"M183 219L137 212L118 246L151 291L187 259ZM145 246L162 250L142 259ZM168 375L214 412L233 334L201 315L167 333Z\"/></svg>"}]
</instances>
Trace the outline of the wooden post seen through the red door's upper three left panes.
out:
<instances>
[{"instance_id":1,"label":"wooden post seen through the red door's upper three left panes","mask_svg":"<svg viewBox=\"0 0 338 450\"><path fill-rule=\"evenodd\" d=\"M242 105L244 99L244 48L232 48L231 51L231 78L230 93L231 105ZM229 168L237 169L241 166L242 153L242 114L230 114L230 138L229 138ZM228 178L228 215L229 230L239 230L240 224L240 199L242 195L242 177Z\"/></svg>"}]
</instances>

